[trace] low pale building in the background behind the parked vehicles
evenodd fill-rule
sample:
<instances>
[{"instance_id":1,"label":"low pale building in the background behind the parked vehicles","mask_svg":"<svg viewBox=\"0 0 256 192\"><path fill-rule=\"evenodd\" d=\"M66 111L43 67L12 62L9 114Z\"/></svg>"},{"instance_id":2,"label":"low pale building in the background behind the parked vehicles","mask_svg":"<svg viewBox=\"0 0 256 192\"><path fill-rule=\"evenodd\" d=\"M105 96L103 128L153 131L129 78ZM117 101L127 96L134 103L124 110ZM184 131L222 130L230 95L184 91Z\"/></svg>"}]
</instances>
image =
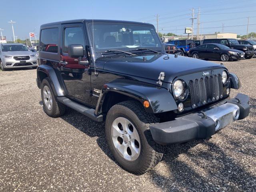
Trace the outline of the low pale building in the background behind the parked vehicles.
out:
<instances>
[{"instance_id":1,"label":"low pale building in the background behind the parked vehicles","mask_svg":"<svg viewBox=\"0 0 256 192\"><path fill-rule=\"evenodd\" d=\"M165 42L168 42L169 40L177 40L177 39L187 39L191 38L191 34L188 35L178 35L178 36L164 36ZM232 38L236 39L237 34L236 33L214 33L214 34L200 34L198 40L204 40L204 39L221 39L221 38ZM194 34L193 39L196 40L196 34Z\"/></svg>"}]
</instances>

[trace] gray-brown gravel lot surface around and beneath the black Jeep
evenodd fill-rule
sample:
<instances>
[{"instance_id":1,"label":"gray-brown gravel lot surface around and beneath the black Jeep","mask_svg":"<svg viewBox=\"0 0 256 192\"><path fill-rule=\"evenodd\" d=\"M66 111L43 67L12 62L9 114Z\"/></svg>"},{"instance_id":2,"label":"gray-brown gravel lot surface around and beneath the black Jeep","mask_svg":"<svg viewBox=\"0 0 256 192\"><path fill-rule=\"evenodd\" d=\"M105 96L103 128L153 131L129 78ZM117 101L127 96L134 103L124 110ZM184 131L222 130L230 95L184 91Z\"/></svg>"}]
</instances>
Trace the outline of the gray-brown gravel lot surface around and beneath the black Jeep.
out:
<instances>
[{"instance_id":1,"label":"gray-brown gravel lot surface around and beneath the black Jeep","mask_svg":"<svg viewBox=\"0 0 256 192\"><path fill-rule=\"evenodd\" d=\"M104 123L43 112L36 70L0 71L0 191L256 191L256 58L225 66L242 82L231 96L250 96L250 115L208 140L168 146L141 176L116 164Z\"/></svg>"}]
</instances>

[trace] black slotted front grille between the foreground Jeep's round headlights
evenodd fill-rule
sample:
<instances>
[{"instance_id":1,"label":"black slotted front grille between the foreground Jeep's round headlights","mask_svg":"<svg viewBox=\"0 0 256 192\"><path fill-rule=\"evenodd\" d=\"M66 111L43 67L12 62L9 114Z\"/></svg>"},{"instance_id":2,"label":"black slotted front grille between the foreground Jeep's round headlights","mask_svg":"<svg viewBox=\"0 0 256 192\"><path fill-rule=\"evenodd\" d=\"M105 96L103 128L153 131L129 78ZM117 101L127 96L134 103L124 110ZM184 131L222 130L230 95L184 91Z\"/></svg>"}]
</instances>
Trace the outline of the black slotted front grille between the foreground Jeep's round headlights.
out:
<instances>
[{"instance_id":1,"label":"black slotted front grille between the foreground Jeep's round headlights","mask_svg":"<svg viewBox=\"0 0 256 192\"><path fill-rule=\"evenodd\" d=\"M192 108L217 101L223 97L222 78L220 74L190 80L188 87Z\"/></svg>"}]
</instances>

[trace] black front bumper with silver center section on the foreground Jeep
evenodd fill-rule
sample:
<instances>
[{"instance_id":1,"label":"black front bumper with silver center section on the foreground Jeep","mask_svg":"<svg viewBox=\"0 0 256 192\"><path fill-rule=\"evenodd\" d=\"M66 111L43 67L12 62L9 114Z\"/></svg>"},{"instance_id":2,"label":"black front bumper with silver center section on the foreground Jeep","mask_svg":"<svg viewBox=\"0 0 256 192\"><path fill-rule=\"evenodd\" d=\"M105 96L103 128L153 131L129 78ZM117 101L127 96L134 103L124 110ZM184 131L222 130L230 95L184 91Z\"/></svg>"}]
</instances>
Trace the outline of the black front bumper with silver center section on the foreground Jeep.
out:
<instances>
[{"instance_id":1,"label":"black front bumper with silver center section on the foreground Jeep","mask_svg":"<svg viewBox=\"0 0 256 192\"><path fill-rule=\"evenodd\" d=\"M149 127L154 141L159 144L182 143L208 138L217 130L248 116L249 110L249 97L237 94L233 99L224 100L200 112Z\"/></svg>"}]
</instances>

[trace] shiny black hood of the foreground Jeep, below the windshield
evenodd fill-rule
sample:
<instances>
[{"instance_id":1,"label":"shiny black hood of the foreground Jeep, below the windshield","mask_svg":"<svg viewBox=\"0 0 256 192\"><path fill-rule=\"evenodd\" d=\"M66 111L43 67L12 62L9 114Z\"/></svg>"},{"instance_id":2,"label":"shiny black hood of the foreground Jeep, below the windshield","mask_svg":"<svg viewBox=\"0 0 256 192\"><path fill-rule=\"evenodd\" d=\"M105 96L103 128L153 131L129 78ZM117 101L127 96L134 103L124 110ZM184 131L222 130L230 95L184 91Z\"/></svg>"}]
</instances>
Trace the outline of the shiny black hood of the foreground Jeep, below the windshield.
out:
<instances>
[{"instance_id":1,"label":"shiny black hood of the foreground Jeep, below the windshield","mask_svg":"<svg viewBox=\"0 0 256 192\"><path fill-rule=\"evenodd\" d=\"M191 72L209 70L210 68L223 68L220 64L204 60L184 56L175 58L172 54L102 57L97 60L105 63L104 70L128 76L158 80L160 72L164 72L164 82L172 82L176 76Z\"/></svg>"}]
</instances>

